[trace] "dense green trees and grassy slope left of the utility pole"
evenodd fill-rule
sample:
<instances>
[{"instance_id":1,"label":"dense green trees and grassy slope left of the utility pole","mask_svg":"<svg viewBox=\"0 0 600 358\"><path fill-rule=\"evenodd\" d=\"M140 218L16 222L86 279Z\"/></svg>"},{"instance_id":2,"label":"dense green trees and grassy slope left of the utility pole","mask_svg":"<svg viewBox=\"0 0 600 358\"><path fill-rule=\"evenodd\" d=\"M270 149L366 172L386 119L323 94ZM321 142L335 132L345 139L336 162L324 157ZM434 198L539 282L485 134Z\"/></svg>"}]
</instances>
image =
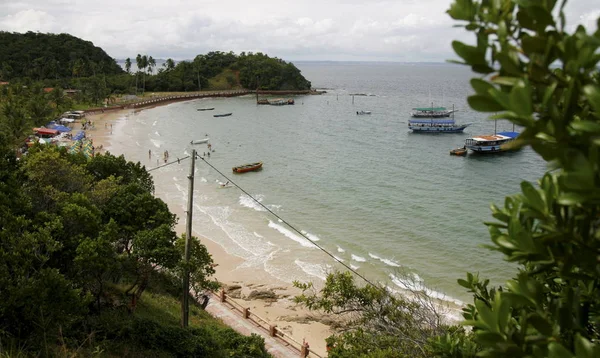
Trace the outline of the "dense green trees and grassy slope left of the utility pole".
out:
<instances>
[{"instance_id":1,"label":"dense green trees and grassy slope left of the utility pole","mask_svg":"<svg viewBox=\"0 0 600 358\"><path fill-rule=\"evenodd\" d=\"M143 166L39 145L17 160L0 133L0 356L268 356L198 306L180 327L183 268L200 294L212 258L194 238L184 262Z\"/></svg>"}]
</instances>

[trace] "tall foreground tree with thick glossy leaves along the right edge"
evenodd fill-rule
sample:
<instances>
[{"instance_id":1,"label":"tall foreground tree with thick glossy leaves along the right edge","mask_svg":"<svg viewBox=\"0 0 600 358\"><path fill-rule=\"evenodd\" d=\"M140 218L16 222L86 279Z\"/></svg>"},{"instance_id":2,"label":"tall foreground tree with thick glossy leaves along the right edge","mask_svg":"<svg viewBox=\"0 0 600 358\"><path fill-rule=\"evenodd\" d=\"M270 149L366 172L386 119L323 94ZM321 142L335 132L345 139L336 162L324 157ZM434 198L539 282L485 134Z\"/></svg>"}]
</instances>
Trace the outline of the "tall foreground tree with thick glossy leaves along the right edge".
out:
<instances>
[{"instance_id":1,"label":"tall foreground tree with thick glossy leaves along the right edge","mask_svg":"<svg viewBox=\"0 0 600 358\"><path fill-rule=\"evenodd\" d=\"M456 0L448 10L476 38L452 43L482 74L469 105L521 126L513 146L553 169L492 206L490 248L519 264L517 277L499 289L459 280L474 295L465 324L487 356L600 356L600 30L567 33L565 2Z\"/></svg>"}]
</instances>

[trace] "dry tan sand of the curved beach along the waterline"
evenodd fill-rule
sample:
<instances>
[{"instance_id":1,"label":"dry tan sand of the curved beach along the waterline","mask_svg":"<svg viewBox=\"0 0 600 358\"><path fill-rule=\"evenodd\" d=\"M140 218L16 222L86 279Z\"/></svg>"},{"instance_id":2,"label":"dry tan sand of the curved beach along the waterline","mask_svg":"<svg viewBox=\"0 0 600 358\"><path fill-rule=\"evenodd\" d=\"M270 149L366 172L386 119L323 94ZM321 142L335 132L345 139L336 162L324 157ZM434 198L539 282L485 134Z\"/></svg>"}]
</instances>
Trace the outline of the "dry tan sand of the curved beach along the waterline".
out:
<instances>
[{"instance_id":1,"label":"dry tan sand of the curved beach along the waterline","mask_svg":"<svg viewBox=\"0 0 600 358\"><path fill-rule=\"evenodd\" d=\"M143 110L149 110L145 108ZM137 109L139 111L141 109ZM128 153L116 153L111 151L111 138L119 126L115 125L116 120L131 115L134 110L107 111L88 115L86 118L93 123L93 128L86 131L88 138L91 137L96 153L110 151L114 155L123 154L127 158ZM81 129L81 124L76 123L74 130ZM155 195L164 200L171 211L177 215L178 223L176 231L178 234L185 232L185 213L183 210L170 203L169 200L160 192ZM198 236L197 234L194 234ZM223 284L230 297L235 297L236 302L241 306L247 307L252 313L260 316L271 325L294 340L302 342L306 340L312 350L319 354L325 354L325 338L332 334L329 326L322 322L327 322L328 318L318 312L310 312L307 309L295 304L293 297L300 293L289 283L279 281L269 275L267 272L259 272L257 269L248 270L240 268L244 260L228 254L217 243L206 237L199 237L201 242L211 253L215 264L215 278ZM250 299L261 292L275 294L276 298ZM267 295L269 296L269 295Z\"/></svg>"}]
</instances>

